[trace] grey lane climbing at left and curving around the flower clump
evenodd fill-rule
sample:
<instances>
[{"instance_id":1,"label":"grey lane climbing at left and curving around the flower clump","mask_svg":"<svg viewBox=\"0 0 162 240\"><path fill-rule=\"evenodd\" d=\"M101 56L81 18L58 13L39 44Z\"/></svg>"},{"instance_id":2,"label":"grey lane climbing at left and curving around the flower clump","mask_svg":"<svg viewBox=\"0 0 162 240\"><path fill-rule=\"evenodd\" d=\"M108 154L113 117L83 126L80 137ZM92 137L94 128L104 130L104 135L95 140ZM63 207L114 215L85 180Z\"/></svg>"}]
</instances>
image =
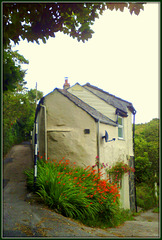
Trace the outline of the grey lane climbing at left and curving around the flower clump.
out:
<instances>
[{"instance_id":1,"label":"grey lane climbing at left and curving around the flower clump","mask_svg":"<svg viewBox=\"0 0 162 240\"><path fill-rule=\"evenodd\" d=\"M102 230L48 209L27 192L24 171L32 166L29 143L14 146L4 159L2 237L160 237L158 214L151 211L120 227Z\"/></svg>"}]
</instances>

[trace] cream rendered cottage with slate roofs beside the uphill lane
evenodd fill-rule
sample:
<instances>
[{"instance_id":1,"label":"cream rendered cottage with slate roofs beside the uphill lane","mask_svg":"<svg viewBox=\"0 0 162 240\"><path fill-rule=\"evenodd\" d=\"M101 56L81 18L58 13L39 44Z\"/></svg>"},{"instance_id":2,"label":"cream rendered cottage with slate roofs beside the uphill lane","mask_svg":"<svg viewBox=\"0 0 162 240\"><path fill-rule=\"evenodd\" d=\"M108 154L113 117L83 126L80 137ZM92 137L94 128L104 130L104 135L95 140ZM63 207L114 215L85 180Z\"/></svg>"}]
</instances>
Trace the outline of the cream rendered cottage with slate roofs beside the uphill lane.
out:
<instances>
[{"instance_id":1,"label":"cream rendered cottage with slate roofs beside the uphill lane","mask_svg":"<svg viewBox=\"0 0 162 240\"><path fill-rule=\"evenodd\" d=\"M78 166L99 163L112 166L123 161L133 166L132 114L130 102L87 83L54 89L36 110L37 147L40 155ZM108 139L107 139L108 138ZM134 210L134 185L128 174L121 182L122 207Z\"/></svg>"}]
</instances>

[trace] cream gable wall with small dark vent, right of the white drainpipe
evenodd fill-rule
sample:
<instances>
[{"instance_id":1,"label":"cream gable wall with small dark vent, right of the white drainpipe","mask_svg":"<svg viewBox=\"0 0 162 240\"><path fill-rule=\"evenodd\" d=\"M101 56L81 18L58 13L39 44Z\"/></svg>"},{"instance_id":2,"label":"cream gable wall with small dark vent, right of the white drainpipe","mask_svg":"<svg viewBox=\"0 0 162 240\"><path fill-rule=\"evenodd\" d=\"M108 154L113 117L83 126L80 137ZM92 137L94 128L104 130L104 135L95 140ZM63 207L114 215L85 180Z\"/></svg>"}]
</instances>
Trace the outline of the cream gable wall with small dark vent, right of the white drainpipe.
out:
<instances>
[{"instance_id":1,"label":"cream gable wall with small dark vent, right of the white drainpipe","mask_svg":"<svg viewBox=\"0 0 162 240\"><path fill-rule=\"evenodd\" d=\"M45 97L47 107L47 148L50 160L63 157L79 166L95 164L96 122L58 91ZM84 129L90 129L85 134Z\"/></svg>"}]
</instances>

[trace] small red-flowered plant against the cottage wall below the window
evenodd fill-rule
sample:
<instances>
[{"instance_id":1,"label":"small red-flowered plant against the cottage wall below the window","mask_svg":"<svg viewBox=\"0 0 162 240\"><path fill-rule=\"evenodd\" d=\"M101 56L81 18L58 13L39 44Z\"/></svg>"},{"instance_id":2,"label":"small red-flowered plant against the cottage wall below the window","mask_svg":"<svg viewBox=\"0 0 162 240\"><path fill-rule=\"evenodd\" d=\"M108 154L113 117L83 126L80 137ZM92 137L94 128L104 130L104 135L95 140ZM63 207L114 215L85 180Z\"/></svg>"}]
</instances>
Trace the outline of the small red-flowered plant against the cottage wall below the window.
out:
<instances>
[{"instance_id":1,"label":"small red-flowered plant against the cottage wall below the window","mask_svg":"<svg viewBox=\"0 0 162 240\"><path fill-rule=\"evenodd\" d=\"M135 172L135 169L129 167L128 164L124 162L116 162L116 164L110 169L106 169L107 174L112 176L112 179L115 183L122 179L124 173Z\"/></svg>"}]
</instances>

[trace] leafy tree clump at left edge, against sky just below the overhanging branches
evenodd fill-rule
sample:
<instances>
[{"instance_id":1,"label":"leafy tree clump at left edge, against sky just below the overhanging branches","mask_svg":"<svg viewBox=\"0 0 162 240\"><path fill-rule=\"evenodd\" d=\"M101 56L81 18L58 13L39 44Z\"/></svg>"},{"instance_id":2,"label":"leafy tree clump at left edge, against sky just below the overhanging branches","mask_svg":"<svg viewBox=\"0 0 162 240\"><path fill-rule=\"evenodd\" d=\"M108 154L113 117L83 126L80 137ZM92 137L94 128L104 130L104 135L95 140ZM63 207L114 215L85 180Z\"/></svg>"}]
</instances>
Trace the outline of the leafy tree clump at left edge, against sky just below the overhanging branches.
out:
<instances>
[{"instance_id":1,"label":"leafy tree clump at left edge, against sky just below the overhanging branches","mask_svg":"<svg viewBox=\"0 0 162 240\"><path fill-rule=\"evenodd\" d=\"M14 91L22 89L22 86L26 84L24 81L25 70L21 69L20 64L28 64L26 60L17 51L11 49L3 51L3 91Z\"/></svg>"}]
</instances>

